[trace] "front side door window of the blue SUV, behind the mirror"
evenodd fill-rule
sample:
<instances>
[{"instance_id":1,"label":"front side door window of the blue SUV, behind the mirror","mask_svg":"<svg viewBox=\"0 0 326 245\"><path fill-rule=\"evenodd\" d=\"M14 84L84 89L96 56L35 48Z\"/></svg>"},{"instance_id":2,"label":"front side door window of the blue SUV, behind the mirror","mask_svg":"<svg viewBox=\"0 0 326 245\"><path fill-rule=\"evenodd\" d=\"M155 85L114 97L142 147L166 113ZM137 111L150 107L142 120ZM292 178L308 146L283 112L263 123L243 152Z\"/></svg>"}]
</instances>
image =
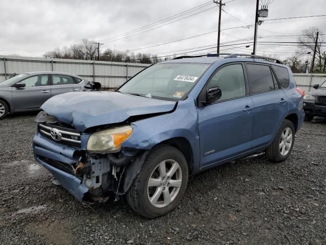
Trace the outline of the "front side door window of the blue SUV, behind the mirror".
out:
<instances>
[{"instance_id":1,"label":"front side door window of the blue SUV, behind the mirror","mask_svg":"<svg viewBox=\"0 0 326 245\"><path fill-rule=\"evenodd\" d=\"M220 101L235 99L246 95L243 69L241 64L228 65L215 73L207 88L220 87Z\"/></svg>"}]
</instances>

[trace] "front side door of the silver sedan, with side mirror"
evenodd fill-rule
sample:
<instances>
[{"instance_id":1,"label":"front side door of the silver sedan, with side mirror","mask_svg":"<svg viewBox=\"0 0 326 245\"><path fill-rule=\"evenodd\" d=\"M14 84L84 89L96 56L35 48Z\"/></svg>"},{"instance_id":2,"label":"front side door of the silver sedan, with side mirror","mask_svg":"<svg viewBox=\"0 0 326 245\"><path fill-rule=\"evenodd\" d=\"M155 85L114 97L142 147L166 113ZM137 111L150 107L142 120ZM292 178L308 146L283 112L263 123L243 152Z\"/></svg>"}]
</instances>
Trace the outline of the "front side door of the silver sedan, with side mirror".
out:
<instances>
[{"instance_id":1,"label":"front side door of the silver sedan, with side mirror","mask_svg":"<svg viewBox=\"0 0 326 245\"><path fill-rule=\"evenodd\" d=\"M39 109L50 98L48 75L36 75L21 80L26 86L12 88L15 110Z\"/></svg>"}]
</instances>

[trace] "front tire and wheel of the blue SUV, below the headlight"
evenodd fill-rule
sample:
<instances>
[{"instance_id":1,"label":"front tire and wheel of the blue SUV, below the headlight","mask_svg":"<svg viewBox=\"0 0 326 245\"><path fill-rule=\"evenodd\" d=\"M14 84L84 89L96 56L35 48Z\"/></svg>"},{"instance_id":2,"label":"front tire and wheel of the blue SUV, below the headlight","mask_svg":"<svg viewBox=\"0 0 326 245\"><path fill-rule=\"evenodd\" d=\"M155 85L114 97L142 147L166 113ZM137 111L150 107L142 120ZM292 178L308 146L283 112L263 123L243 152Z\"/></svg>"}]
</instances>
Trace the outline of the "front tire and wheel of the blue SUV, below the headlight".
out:
<instances>
[{"instance_id":1,"label":"front tire and wheel of the blue SUV, below the headlight","mask_svg":"<svg viewBox=\"0 0 326 245\"><path fill-rule=\"evenodd\" d=\"M147 155L128 190L128 204L148 218L164 215L178 205L187 181L188 165L184 155L172 146L158 146Z\"/></svg>"}]
</instances>

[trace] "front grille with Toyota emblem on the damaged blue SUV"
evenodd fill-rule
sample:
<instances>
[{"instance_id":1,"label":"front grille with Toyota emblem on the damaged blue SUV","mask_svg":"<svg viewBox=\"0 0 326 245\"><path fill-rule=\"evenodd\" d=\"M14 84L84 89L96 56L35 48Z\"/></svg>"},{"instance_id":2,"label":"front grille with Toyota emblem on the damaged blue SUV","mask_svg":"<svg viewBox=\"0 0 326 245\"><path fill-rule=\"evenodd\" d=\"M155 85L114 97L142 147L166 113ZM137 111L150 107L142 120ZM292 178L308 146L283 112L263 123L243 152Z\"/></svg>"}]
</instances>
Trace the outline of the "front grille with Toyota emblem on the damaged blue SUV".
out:
<instances>
[{"instance_id":1,"label":"front grille with Toyota emblem on the damaged blue SUV","mask_svg":"<svg viewBox=\"0 0 326 245\"><path fill-rule=\"evenodd\" d=\"M80 148L81 146L80 134L76 131L72 131L71 129L39 124L39 132L43 137L58 144L70 146L73 148Z\"/></svg>"}]
</instances>

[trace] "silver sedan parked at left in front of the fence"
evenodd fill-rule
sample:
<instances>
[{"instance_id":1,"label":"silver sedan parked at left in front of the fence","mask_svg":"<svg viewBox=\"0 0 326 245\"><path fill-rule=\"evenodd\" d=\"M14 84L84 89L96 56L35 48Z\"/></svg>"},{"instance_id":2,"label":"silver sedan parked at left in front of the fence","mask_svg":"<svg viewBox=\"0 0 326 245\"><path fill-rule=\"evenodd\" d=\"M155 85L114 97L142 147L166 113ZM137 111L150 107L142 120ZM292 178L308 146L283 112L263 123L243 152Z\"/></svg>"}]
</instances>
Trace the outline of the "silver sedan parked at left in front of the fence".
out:
<instances>
[{"instance_id":1,"label":"silver sedan parked at left in front of the fence","mask_svg":"<svg viewBox=\"0 0 326 245\"><path fill-rule=\"evenodd\" d=\"M0 119L8 113L38 110L50 97L98 90L99 83L64 72L26 72L0 83Z\"/></svg>"}]
</instances>

